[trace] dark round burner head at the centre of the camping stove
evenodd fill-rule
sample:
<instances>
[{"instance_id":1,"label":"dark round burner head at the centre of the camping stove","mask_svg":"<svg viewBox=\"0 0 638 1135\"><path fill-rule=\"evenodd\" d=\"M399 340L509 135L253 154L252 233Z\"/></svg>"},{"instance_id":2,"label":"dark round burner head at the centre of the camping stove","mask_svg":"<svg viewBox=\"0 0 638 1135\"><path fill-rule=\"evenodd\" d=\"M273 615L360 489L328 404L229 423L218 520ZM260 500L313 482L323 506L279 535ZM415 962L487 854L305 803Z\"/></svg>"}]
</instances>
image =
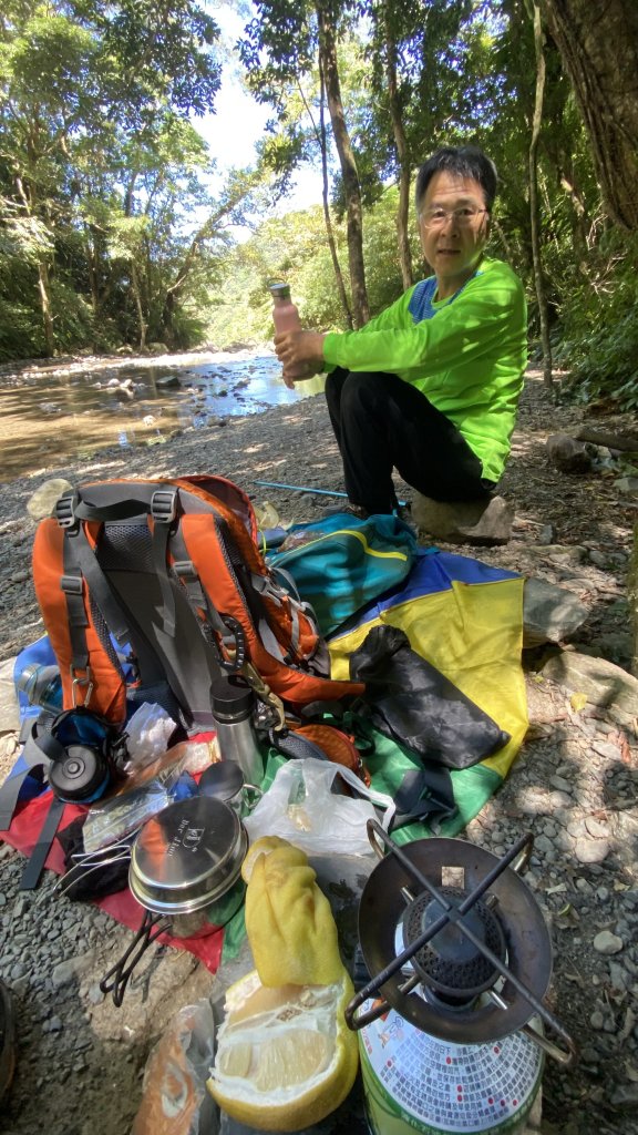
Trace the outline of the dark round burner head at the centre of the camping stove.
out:
<instances>
[{"instance_id":1,"label":"dark round burner head at the centre of the camping stove","mask_svg":"<svg viewBox=\"0 0 638 1135\"><path fill-rule=\"evenodd\" d=\"M453 886L440 888L439 894L454 908L468 897L467 891ZM414 899L403 916L404 947L411 945L423 931L434 926L445 909L427 893ZM479 899L463 919L475 938L501 961L505 961L505 935L487 902ZM495 985L500 976L479 945L475 945L452 919L413 955L411 964L426 985L428 1000L440 1000L448 1008L470 1004L479 993ZM431 998L433 992L438 997Z\"/></svg>"}]
</instances>

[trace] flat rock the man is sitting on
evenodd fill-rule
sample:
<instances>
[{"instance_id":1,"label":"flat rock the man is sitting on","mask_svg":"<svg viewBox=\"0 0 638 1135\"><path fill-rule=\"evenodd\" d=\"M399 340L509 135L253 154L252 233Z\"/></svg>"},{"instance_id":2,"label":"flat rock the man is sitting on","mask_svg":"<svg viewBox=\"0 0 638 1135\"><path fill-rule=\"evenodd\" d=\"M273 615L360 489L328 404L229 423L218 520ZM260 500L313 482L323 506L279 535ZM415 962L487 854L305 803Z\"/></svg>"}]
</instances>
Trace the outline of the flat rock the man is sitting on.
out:
<instances>
[{"instance_id":1,"label":"flat rock the man is sitting on","mask_svg":"<svg viewBox=\"0 0 638 1135\"><path fill-rule=\"evenodd\" d=\"M433 501L415 493L412 519L419 532L450 544L486 547L506 544L512 533L514 510L501 496L487 501Z\"/></svg>"}]
</instances>

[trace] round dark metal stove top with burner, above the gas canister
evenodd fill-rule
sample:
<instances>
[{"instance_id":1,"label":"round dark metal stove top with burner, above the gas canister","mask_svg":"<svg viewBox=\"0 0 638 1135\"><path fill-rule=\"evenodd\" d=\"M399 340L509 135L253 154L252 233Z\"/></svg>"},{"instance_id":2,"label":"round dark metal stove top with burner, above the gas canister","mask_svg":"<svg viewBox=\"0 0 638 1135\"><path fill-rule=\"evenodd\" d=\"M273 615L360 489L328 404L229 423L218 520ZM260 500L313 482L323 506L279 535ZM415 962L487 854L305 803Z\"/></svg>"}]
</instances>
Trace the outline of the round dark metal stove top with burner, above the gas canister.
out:
<instances>
[{"instance_id":1,"label":"round dark metal stove top with burner, above the gas canister","mask_svg":"<svg viewBox=\"0 0 638 1135\"><path fill-rule=\"evenodd\" d=\"M452 1043L482 1044L521 1028L536 1008L524 989L539 1003L552 974L549 933L527 884L473 843L431 836L397 847L383 835L388 851L359 906L367 998L381 998L415 1028ZM428 938L447 903L464 914L455 909ZM461 917L471 936L454 925ZM481 944L490 958L480 958Z\"/></svg>"}]
</instances>

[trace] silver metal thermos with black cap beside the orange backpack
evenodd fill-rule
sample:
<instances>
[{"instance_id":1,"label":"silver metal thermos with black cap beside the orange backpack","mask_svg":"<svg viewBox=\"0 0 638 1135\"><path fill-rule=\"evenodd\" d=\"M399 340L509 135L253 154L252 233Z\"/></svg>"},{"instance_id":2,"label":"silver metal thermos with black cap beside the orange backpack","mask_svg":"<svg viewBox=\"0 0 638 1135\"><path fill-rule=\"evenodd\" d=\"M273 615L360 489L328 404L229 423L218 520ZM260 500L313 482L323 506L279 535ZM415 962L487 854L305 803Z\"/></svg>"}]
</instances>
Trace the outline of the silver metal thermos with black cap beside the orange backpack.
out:
<instances>
[{"instance_id":1,"label":"silver metal thermos with black cap beside the orange backpack","mask_svg":"<svg viewBox=\"0 0 638 1135\"><path fill-rule=\"evenodd\" d=\"M253 728L254 693L237 675L212 683L212 716L223 760L234 760L249 784L261 784L263 760Z\"/></svg>"}]
</instances>

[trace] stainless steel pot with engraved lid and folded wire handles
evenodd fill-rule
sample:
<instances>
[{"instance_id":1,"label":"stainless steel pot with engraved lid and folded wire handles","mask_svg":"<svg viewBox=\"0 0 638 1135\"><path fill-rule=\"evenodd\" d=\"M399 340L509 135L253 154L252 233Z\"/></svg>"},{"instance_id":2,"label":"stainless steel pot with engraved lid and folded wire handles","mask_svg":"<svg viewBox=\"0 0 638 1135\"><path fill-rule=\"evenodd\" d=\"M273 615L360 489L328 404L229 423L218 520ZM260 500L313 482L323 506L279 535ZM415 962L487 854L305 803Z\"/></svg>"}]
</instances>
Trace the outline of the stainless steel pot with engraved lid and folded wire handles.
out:
<instances>
[{"instance_id":1,"label":"stainless steel pot with engraved lid and folded wire handles","mask_svg":"<svg viewBox=\"0 0 638 1135\"><path fill-rule=\"evenodd\" d=\"M143 825L131 852L128 885L144 907L144 918L100 982L116 1006L137 961L160 934L203 938L229 922L244 900L241 867L246 849L240 817L215 797L171 804Z\"/></svg>"}]
</instances>

